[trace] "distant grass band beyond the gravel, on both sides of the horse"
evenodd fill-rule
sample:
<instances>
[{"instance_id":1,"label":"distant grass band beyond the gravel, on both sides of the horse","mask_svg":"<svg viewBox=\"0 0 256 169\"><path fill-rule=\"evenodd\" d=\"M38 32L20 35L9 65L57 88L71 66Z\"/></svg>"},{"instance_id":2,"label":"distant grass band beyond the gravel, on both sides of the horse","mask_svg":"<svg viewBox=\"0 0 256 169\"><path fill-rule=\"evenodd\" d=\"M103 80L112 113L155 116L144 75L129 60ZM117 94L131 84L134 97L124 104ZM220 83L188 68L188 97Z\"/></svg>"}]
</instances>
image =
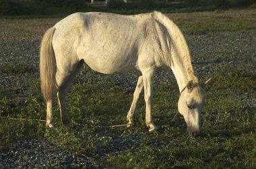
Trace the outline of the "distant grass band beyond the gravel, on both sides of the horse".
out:
<instances>
[{"instance_id":1,"label":"distant grass band beyond the gravel, on both sides of the horse","mask_svg":"<svg viewBox=\"0 0 256 169\"><path fill-rule=\"evenodd\" d=\"M167 13L185 34L209 34L211 32L247 31L256 29L256 10L212 11L200 13ZM5 32L3 42L15 40L39 40L49 27L66 15L53 18L5 17L0 18L0 31ZM17 27L16 25L19 25ZM14 31L15 30L15 31ZM19 34L18 32L25 32Z\"/></svg>"}]
</instances>

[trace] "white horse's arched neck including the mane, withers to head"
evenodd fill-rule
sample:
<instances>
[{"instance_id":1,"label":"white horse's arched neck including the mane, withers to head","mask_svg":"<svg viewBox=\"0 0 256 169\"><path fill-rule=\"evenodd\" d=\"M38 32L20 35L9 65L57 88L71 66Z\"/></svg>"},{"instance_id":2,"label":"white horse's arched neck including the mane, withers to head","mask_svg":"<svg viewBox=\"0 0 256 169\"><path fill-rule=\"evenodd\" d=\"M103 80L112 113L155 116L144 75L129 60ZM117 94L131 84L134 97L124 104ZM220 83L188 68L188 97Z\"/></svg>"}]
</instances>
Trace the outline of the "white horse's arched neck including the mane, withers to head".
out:
<instances>
[{"instance_id":1,"label":"white horse's arched neck including the mane, withers to head","mask_svg":"<svg viewBox=\"0 0 256 169\"><path fill-rule=\"evenodd\" d=\"M162 56L162 63L169 66L177 79L180 91L187 85L189 80L197 82L191 65L191 58L187 42L179 27L162 13L154 12L153 17L162 25L162 30L166 34L168 52Z\"/></svg>"}]
</instances>

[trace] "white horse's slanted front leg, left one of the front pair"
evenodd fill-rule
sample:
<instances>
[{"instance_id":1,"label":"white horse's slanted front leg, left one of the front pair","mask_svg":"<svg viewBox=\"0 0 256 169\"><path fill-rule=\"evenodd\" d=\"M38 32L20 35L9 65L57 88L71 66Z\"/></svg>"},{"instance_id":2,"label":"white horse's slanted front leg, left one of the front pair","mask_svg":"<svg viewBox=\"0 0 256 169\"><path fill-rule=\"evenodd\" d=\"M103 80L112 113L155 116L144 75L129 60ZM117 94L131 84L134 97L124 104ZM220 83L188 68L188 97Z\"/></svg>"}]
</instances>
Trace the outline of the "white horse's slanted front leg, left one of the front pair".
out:
<instances>
[{"instance_id":1,"label":"white horse's slanted front leg, left one of the front pair","mask_svg":"<svg viewBox=\"0 0 256 169\"><path fill-rule=\"evenodd\" d=\"M134 115L136 105L139 100L139 95L141 94L142 89L143 89L143 78L142 78L142 76L139 76L136 89L133 93L133 102L131 103L131 107L127 114L127 121L129 121L129 125L127 125L127 127L130 127L131 123L133 123L133 115Z\"/></svg>"}]
</instances>

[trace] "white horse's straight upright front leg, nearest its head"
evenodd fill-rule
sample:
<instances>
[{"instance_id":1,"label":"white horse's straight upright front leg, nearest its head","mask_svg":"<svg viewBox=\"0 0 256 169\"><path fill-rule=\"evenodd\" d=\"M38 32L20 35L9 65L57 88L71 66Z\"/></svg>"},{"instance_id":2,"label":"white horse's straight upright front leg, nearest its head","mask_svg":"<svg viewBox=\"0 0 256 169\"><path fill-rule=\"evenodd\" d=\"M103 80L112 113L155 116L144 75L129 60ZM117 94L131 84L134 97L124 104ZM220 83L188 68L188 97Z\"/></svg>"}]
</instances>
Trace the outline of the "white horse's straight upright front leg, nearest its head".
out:
<instances>
[{"instance_id":1,"label":"white horse's straight upright front leg, nearest its head","mask_svg":"<svg viewBox=\"0 0 256 169\"><path fill-rule=\"evenodd\" d=\"M144 98L146 102L146 125L150 127L149 131L158 129L152 121L152 98L153 98L153 76L154 70L148 70L143 73L143 84L144 84Z\"/></svg>"}]
</instances>

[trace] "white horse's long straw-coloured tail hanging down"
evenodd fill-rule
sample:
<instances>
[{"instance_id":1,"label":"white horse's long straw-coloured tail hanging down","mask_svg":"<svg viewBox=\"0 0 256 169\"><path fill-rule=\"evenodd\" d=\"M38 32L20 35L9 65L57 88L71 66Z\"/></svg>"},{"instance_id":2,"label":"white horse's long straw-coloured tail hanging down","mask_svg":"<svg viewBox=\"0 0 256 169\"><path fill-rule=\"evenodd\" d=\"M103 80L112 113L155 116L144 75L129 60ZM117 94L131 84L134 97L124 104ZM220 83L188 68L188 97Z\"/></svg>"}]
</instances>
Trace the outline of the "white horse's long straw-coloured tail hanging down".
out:
<instances>
[{"instance_id":1,"label":"white horse's long straw-coloured tail hanging down","mask_svg":"<svg viewBox=\"0 0 256 169\"><path fill-rule=\"evenodd\" d=\"M47 30L40 46L40 81L45 101L52 99L53 91L56 89L56 59L52 44L54 32L55 27Z\"/></svg>"}]
</instances>

